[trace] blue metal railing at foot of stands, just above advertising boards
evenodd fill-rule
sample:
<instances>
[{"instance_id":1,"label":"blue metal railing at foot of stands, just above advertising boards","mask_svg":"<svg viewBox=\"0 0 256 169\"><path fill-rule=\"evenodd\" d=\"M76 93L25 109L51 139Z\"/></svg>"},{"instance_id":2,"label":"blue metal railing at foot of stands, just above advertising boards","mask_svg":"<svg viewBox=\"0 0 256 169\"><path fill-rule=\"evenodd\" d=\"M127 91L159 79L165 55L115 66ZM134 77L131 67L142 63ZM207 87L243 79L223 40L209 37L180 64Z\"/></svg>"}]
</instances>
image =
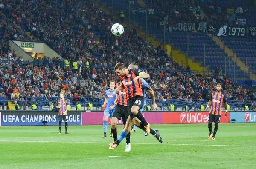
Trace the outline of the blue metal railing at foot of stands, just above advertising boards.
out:
<instances>
[{"instance_id":1,"label":"blue metal railing at foot of stands, just above advertising boards","mask_svg":"<svg viewBox=\"0 0 256 169\"><path fill-rule=\"evenodd\" d=\"M31 110L31 105L34 102L38 110L46 111L49 109L49 102L52 102L54 107L56 105L56 102L59 98L58 97L26 97L24 101L17 100L17 103L23 110ZM99 98L81 98L81 97L67 97L65 98L70 101L70 106L75 110L77 101L80 102L82 105L82 111L87 110L88 103L93 104L93 110L102 110L102 104L104 103L104 100ZM0 100L0 108L2 106L5 106L5 110L12 110L14 106L15 100ZM156 103L158 106L158 111L168 111L170 103L173 103L175 105L175 111L185 111L186 103L188 103L187 106L189 106L191 111L199 111L199 107L201 103L206 107L209 100L178 100L178 99L156 99ZM149 105L152 105L152 100L147 99L146 100ZM3 104L4 103L4 104ZM241 100L227 100L227 103L230 105L230 111L243 111L244 110L244 102ZM249 106L249 110L253 111L253 107L251 104L247 104ZM93 111L91 110L91 111ZM224 105L222 106L222 110L224 111Z\"/></svg>"}]
</instances>

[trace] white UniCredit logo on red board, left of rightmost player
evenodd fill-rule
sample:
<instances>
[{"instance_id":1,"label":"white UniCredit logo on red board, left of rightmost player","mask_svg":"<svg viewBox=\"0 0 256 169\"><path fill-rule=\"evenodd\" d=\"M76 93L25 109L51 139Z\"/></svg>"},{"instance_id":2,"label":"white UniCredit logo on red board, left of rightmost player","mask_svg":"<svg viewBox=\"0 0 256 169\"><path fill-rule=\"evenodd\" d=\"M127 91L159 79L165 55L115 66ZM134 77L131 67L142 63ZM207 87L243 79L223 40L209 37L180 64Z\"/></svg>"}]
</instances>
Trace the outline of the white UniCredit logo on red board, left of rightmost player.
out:
<instances>
[{"instance_id":1,"label":"white UniCredit logo on red board, left of rightmost player","mask_svg":"<svg viewBox=\"0 0 256 169\"><path fill-rule=\"evenodd\" d=\"M202 115L201 113L181 113L181 123L207 123L208 115Z\"/></svg>"}]
</instances>

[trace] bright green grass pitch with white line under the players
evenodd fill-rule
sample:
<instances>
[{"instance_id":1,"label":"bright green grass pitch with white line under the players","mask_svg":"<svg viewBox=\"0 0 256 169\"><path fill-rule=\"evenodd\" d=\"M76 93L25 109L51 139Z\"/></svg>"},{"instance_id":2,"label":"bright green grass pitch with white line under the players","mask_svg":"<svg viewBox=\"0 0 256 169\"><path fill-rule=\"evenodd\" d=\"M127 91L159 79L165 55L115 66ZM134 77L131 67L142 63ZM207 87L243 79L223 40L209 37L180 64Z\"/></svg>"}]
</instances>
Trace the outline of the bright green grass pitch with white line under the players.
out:
<instances>
[{"instance_id":1,"label":"bright green grass pitch with white line under the players","mask_svg":"<svg viewBox=\"0 0 256 169\"><path fill-rule=\"evenodd\" d=\"M118 126L118 136L121 132ZM214 125L212 125L214 128ZM254 168L256 123L220 123L216 140L208 140L207 124L151 125L163 144L137 128L131 133L131 151L125 139L114 150L102 126L0 126L1 169L105 168ZM113 157L111 157L113 156Z\"/></svg>"}]
</instances>

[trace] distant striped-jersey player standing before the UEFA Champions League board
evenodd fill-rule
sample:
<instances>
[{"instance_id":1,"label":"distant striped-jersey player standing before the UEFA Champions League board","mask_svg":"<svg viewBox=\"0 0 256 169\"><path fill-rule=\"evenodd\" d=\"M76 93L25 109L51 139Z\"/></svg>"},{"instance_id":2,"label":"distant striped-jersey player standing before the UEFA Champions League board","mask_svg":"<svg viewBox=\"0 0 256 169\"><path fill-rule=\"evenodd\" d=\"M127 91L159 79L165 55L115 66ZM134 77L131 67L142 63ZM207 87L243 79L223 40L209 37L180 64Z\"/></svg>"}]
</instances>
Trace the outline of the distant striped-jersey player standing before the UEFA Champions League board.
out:
<instances>
[{"instance_id":1,"label":"distant striped-jersey player standing before the UEFA Champions League board","mask_svg":"<svg viewBox=\"0 0 256 169\"><path fill-rule=\"evenodd\" d=\"M65 121L65 129L66 129L65 134L69 134L69 132L67 132L67 120L68 120L67 100L64 99L64 93L62 92L60 93L60 100L57 101L56 108L59 108L59 129L60 129L59 134L61 134L62 119Z\"/></svg>"}]
</instances>

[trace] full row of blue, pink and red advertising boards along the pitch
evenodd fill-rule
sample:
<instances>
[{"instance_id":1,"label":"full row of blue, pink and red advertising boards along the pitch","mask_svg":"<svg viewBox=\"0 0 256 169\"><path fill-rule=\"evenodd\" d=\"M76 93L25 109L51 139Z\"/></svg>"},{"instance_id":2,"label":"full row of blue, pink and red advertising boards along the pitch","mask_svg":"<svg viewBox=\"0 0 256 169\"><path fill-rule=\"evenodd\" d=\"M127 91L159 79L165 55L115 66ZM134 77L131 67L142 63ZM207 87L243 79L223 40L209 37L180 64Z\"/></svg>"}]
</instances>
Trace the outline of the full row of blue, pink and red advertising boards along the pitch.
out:
<instances>
[{"instance_id":1,"label":"full row of blue, pink and red advertising boards along the pitch","mask_svg":"<svg viewBox=\"0 0 256 169\"><path fill-rule=\"evenodd\" d=\"M209 112L143 112L150 124L184 124L208 123ZM102 125L104 112L68 112L69 125ZM256 112L224 112L221 123L252 123L256 122ZM0 126L41 126L43 121L47 125L58 125L58 112L0 112ZM63 122L64 123L64 122ZM110 120L109 120L110 123ZM122 124L122 119L117 124Z\"/></svg>"}]
</instances>

